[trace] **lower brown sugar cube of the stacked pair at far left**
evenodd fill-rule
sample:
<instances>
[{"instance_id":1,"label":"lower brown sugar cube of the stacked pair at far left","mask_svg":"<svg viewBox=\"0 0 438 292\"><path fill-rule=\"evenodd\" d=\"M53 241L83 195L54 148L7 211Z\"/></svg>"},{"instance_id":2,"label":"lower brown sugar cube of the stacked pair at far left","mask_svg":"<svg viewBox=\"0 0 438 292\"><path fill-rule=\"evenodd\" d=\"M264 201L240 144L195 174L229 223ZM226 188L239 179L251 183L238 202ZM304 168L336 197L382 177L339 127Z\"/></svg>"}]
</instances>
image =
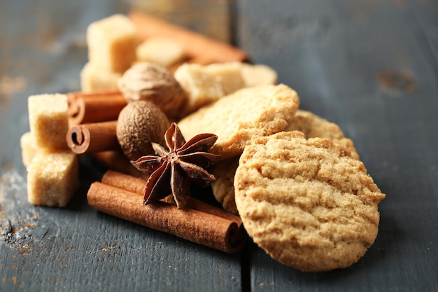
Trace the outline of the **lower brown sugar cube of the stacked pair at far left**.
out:
<instances>
[{"instance_id":1,"label":"lower brown sugar cube of the stacked pair at far left","mask_svg":"<svg viewBox=\"0 0 438 292\"><path fill-rule=\"evenodd\" d=\"M65 207L78 188L78 156L68 151L36 153L27 167L27 200Z\"/></svg>"}]
</instances>

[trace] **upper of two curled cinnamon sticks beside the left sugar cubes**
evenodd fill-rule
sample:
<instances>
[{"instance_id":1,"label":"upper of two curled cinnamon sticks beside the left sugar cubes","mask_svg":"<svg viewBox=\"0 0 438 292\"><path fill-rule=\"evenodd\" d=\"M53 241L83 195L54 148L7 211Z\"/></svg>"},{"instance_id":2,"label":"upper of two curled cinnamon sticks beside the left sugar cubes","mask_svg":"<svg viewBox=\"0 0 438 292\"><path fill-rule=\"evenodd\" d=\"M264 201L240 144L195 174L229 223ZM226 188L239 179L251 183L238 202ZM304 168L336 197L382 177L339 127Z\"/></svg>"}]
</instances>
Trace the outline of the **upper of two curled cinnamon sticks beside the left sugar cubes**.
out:
<instances>
[{"instance_id":1,"label":"upper of two curled cinnamon sticks beside the left sugar cubes","mask_svg":"<svg viewBox=\"0 0 438 292\"><path fill-rule=\"evenodd\" d=\"M118 91L69 92L67 99L71 125L117 120L120 111L127 105Z\"/></svg>"}]
</instances>

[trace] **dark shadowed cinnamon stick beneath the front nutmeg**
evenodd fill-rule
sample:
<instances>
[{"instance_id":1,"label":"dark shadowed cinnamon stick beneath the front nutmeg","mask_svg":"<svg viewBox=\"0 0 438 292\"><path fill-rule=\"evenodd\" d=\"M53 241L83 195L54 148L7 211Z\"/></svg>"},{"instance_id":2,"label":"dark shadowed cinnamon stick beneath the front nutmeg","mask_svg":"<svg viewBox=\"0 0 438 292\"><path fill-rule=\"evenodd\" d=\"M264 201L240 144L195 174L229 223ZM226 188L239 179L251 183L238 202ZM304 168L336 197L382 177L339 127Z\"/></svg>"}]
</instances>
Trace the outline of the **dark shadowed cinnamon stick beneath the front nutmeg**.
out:
<instances>
[{"instance_id":1,"label":"dark shadowed cinnamon stick beneath the front nutmeg","mask_svg":"<svg viewBox=\"0 0 438 292\"><path fill-rule=\"evenodd\" d=\"M89 153L96 162L107 169L113 169L122 174L129 174L129 176L141 179L148 179L147 174L143 174L134 165L129 162L129 159L122 153L122 151L101 151Z\"/></svg>"}]
</instances>

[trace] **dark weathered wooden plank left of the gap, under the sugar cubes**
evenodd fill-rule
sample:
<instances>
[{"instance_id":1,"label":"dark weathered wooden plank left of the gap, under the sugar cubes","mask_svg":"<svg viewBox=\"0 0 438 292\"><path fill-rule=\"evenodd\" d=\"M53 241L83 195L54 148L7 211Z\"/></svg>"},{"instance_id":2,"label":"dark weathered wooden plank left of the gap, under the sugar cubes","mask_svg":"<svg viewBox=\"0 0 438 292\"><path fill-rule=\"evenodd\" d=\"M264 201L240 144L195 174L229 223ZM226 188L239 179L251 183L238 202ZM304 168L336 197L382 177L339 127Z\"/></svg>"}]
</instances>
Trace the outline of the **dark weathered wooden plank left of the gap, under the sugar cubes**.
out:
<instances>
[{"instance_id":1,"label":"dark weathered wooden plank left of the gap, under the sugar cubes","mask_svg":"<svg viewBox=\"0 0 438 292\"><path fill-rule=\"evenodd\" d=\"M129 11L125 1L3 1L0 9L1 291L241 291L240 255L101 214L87 186L101 169L83 160L65 209L27 202L20 136L27 97L79 88L87 25Z\"/></svg>"}]
</instances>

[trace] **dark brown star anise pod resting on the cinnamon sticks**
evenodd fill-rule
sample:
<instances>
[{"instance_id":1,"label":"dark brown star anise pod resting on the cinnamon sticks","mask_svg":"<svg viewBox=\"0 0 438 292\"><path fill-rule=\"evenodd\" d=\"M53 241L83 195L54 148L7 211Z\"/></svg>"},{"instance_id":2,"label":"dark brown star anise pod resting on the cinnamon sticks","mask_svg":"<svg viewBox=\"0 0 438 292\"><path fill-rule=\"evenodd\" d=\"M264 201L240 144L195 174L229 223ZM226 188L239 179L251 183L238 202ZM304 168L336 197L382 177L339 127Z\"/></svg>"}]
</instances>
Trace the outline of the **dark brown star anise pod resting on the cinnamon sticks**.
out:
<instances>
[{"instance_id":1,"label":"dark brown star anise pod resting on the cinnamon sticks","mask_svg":"<svg viewBox=\"0 0 438 292\"><path fill-rule=\"evenodd\" d=\"M164 133L169 150L152 143L157 156L146 155L132 162L141 172L150 174L143 203L157 202L172 194L178 208L184 208L190 197L190 183L208 186L216 180L206 168L220 159L220 155L208 152L217 139L215 134L198 134L186 142L178 125L172 123Z\"/></svg>"}]
</instances>

